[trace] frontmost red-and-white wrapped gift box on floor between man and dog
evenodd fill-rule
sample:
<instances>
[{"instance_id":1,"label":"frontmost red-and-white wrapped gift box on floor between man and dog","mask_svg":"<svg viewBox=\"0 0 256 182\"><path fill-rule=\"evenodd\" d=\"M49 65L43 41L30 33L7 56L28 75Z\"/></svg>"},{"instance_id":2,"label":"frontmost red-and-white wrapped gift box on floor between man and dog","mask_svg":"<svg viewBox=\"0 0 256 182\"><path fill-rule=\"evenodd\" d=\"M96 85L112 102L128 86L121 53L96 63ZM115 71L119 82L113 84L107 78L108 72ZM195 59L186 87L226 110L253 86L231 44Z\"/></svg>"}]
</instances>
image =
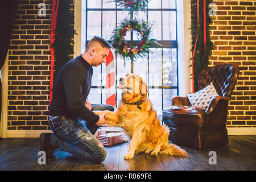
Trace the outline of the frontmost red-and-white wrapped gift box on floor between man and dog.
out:
<instances>
[{"instance_id":1,"label":"frontmost red-and-white wrapped gift box on floor between man and dog","mask_svg":"<svg viewBox=\"0 0 256 182\"><path fill-rule=\"evenodd\" d=\"M123 133L107 133L104 135L98 135L98 140L104 146L113 146L114 144L124 143L125 140L122 139Z\"/></svg>"}]
</instances>

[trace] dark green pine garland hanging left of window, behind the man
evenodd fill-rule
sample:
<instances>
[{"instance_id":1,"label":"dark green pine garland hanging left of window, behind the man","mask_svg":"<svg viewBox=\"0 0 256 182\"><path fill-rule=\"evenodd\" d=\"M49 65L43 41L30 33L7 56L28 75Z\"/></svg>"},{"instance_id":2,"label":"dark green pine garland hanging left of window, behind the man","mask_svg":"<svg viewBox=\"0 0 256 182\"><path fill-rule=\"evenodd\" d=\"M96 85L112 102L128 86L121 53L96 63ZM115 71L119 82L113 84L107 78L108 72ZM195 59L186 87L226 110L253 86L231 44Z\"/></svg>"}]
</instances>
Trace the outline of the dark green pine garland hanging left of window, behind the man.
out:
<instances>
[{"instance_id":1,"label":"dark green pine garland hanging left of window, behind the man","mask_svg":"<svg viewBox=\"0 0 256 182\"><path fill-rule=\"evenodd\" d=\"M53 80L60 68L70 60L69 55L74 53L73 38L76 31L73 27L74 15L71 13L71 4L71 0L59 1L55 41L51 45L55 56Z\"/></svg>"}]
</instances>

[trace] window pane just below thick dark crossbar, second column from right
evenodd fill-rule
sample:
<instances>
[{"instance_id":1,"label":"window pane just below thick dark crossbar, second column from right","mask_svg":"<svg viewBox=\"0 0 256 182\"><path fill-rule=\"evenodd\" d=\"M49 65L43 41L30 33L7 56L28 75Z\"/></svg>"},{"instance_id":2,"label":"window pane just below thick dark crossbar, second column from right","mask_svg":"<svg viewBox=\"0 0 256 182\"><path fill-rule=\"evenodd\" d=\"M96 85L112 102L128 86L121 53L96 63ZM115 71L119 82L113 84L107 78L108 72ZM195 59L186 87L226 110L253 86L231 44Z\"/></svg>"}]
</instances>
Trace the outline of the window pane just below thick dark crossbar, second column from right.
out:
<instances>
[{"instance_id":1,"label":"window pane just below thick dark crossbar, second column from right","mask_svg":"<svg viewBox=\"0 0 256 182\"><path fill-rule=\"evenodd\" d=\"M149 85L162 86L162 49L150 48L149 54Z\"/></svg>"}]
</instances>

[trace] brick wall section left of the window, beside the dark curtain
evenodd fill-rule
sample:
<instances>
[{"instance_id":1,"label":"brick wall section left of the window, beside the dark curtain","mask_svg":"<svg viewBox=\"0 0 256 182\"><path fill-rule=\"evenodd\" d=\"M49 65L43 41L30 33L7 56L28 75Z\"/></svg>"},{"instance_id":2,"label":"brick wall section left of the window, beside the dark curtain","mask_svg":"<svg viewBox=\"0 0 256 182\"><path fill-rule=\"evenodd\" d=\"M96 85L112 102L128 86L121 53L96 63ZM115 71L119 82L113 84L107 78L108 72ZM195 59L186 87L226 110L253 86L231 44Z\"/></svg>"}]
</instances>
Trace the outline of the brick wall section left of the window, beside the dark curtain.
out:
<instances>
[{"instance_id":1,"label":"brick wall section left of the window, beside the dark curtain","mask_svg":"<svg viewBox=\"0 0 256 182\"><path fill-rule=\"evenodd\" d=\"M7 129L47 130L52 0L18 3L9 47ZM39 3L46 4L46 16L38 15Z\"/></svg>"}]
</instances>

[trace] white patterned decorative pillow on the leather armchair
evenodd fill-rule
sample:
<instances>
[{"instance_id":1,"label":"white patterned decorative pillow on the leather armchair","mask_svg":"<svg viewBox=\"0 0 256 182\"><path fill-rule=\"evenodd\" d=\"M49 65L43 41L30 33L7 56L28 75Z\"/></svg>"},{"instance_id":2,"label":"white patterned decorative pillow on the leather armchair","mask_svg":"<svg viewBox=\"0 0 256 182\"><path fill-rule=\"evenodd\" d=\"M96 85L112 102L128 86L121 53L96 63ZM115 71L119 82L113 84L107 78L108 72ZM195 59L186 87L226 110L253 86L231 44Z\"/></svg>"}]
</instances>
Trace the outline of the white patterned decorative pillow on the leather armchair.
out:
<instances>
[{"instance_id":1,"label":"white patterned decorative pillow on the leather armchair","mask_svg":"<svg viewBox=\"0 0 256 182\"><path fill-rule=\"evenodd\" d=\"M204 110L207 109L210 100L212 100L214 96L218 96L218 93L212 82L198 92L187 94L188 100L192 106L200 107Z\"/></svg>"}]
</instances>

